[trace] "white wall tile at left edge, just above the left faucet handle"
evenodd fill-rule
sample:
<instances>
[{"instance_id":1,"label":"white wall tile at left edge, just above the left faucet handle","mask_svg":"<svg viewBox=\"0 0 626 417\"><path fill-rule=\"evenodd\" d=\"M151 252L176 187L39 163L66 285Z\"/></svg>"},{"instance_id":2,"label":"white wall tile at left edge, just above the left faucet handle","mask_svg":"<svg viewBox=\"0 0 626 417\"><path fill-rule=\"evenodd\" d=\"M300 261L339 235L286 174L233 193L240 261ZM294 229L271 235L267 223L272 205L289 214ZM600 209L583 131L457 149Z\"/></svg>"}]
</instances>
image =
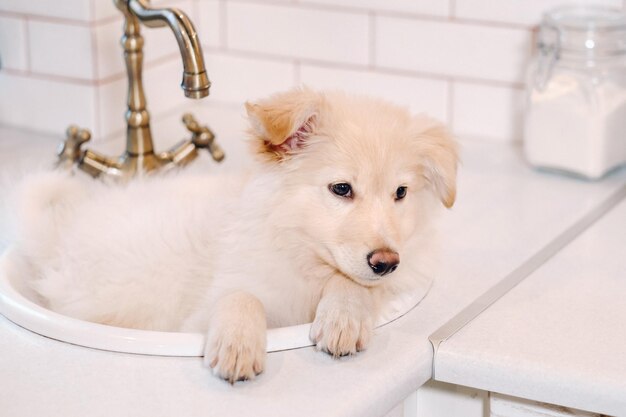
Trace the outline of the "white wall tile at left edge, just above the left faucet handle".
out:
<instances>
[{"instance_id":1,"label":"white wall tile at left edge, just above the left faucet handle","mask_svg":"<svg viewBox=\"0 0 626 417\"><path fill-rule=\"evenodd\" d=\"M95 125L91 86L0 72L0 124L58 134L70 124Z\"/></svg>"}]
</instances>

